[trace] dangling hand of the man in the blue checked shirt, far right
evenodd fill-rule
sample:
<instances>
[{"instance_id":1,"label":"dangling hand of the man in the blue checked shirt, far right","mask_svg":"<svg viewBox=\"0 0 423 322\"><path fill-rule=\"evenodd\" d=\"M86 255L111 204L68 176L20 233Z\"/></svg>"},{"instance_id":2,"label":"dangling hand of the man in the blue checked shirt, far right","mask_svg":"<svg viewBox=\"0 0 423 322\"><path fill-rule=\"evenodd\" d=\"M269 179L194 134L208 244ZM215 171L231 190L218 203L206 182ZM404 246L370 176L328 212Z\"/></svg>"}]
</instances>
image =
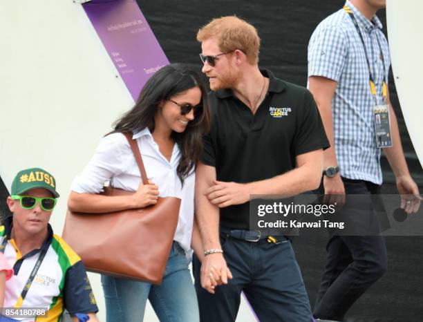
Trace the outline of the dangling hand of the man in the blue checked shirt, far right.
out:
<instances>
[{"instance_id":1,"label":"dangling hand of the man in the blue checked shirt, far right","mask_svg":"<svg viewBox=\"0 0 423 322\"><path fill-rule=\"evenodd\" d=\"M415 214L420 208L422 197L413 178L411 176L397 177L397 189L401 195L401 208L407 214Z\"/></svg>"}]
</instances>

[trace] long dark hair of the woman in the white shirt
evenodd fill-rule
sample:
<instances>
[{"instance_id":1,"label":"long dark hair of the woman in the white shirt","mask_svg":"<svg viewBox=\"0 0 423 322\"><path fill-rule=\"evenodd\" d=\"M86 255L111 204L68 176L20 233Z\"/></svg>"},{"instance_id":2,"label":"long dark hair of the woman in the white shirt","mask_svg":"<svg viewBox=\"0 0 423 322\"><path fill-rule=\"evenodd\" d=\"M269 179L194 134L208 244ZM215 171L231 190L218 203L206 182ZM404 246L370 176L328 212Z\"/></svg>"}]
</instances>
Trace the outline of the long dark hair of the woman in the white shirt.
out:
<instances>
[{"instance_id":1,"label":"long dark hair of the woman in the white shirt","mask_svg":"<svg viewBox=\"0 0 423 322\"><path fill-rule=\"evenodd\" d=\"M174 95L194 87L200 88L200 104L203 105L203 113L190 121L184 132L177 133L173 131L171 134L181 152L176 172L182 184L184 179L196 167L203 149L203 133L209 131L210 126L207 89L200 75L194 70L184 64L170 64L158 70L142 88L135 106L113 124L114 131L111 132L137 133L149 128L150 132L153 133L155 127L154 116L158 111L160 102L169 100Z\"/></svg>"}]
</instances>

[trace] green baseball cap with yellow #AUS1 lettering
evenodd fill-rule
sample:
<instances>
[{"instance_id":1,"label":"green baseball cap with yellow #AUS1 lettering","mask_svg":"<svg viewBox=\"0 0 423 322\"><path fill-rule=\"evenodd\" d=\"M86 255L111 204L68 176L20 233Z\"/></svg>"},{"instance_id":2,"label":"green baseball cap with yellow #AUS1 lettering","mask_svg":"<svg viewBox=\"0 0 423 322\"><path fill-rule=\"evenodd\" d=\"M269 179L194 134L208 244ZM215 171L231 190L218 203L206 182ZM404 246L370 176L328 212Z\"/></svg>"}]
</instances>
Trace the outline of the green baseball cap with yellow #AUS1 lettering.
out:
<instances>
[{"instance_id":1,"label":"green baseball cap with yellow #AUS1 lettering","mask_svg":"<svg viewBox=\"0 0 423 322\"><path fill-rule=\"evenodd\" d=\"M59 198L56 191L56 180L46 170L40 168L30 168L21 170L12 181L11 195L20 195L21 193L34 188L44 188L53 193L55 198Z\"/></svg>"}]
</instances>

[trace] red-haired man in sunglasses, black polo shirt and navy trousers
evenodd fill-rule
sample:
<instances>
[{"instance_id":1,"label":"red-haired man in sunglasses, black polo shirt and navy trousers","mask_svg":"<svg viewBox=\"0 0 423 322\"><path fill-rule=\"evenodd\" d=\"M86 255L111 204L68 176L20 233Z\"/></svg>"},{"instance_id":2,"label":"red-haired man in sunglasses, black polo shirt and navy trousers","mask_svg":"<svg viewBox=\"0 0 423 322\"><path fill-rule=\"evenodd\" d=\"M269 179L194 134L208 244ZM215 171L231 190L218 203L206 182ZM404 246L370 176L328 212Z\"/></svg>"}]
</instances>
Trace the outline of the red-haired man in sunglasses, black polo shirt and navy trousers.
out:
<instances>
[{"instance_id":1,"label":"red-haired man in sunglasses, black polo shirt and navy trousers","mask_svg":"<svg viewBox=\"0 0 423 322\"><path fill-rule=\"evenodd\" d=\"M196 171L201 321L235 321L243 291L260 321L310 322L291 241L251 229L249 209L254 194L318 187L328 147L319 111L306 88L259 69L260 38L250 23L214 19L197 39L212 88L212 126Z\"/></svg>"}]
</instances>

